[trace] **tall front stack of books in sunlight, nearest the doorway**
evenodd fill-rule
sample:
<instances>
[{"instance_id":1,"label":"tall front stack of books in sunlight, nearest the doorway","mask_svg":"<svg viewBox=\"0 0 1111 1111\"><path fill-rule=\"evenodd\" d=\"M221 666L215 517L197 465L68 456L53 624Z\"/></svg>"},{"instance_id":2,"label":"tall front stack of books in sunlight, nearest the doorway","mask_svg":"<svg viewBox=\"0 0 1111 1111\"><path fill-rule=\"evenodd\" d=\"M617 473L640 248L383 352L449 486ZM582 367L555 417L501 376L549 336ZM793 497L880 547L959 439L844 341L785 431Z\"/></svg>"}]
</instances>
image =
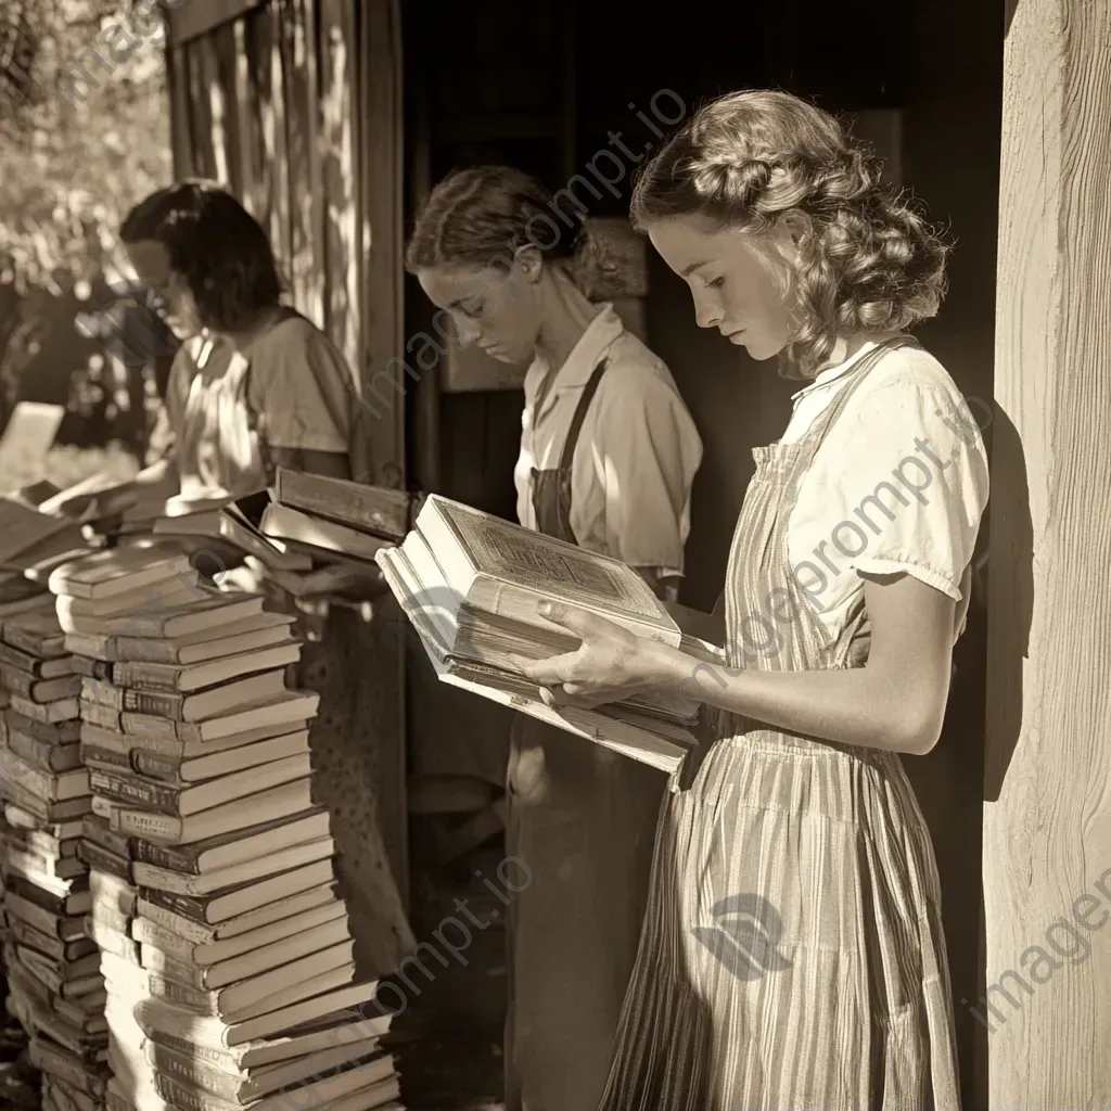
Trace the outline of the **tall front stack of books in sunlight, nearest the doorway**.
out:
<instances>
[{"instance_id":1,"label":"tall front stack of books in sunlight, nearest the doorway","mask_svg":"<svg viewBox=\"0 0 1111 1111\"><path fill-rule=\"evenodd\" d=\"M128 621L140 594L174 582L191 601ZM286 687L301 648L291 619L149 550L60 567L50 588L82 675L108 1107L396 1107L388 1023L351 1011L377 984L354 980L329 817L312 800L319 698Z\"/></svg>"}]
</instances>

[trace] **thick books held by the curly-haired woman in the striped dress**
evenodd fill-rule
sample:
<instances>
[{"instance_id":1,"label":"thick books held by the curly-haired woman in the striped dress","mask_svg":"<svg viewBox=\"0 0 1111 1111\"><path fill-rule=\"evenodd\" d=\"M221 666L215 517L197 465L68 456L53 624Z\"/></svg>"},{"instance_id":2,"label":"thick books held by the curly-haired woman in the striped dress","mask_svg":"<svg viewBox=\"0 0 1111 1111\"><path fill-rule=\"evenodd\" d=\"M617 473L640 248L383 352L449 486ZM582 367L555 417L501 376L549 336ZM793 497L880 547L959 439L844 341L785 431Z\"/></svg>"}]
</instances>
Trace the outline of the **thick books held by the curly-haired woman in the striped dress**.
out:
<instances>
[{"instance_id":1,"label":"thick books held by the curly-haired woman in the striped dress","mask_svg":"<svg viewBox=\"0 0 1111 1111\"><path fill-rule=\"evenodd\" d=\"M694 743L698 710L681 691L592 710L553 708L514 661L578 647L575 637L540 617L540 602L552 599L681 648L692 671L703 660L720 662L619 560L438 494L424 502L401 546L376 559L443 681L665 771Z\"/></svg>"}]
</instances>

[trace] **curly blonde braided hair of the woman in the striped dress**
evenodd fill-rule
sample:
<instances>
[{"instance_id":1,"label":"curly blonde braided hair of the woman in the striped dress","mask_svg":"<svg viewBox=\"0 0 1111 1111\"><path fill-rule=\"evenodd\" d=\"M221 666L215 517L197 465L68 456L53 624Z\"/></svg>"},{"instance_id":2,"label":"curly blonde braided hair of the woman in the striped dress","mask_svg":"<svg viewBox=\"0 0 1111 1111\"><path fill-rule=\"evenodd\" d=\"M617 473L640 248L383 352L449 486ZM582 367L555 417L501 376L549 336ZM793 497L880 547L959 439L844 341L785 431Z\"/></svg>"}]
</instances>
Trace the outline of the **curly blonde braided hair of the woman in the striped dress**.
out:
<instances>
[{"instance_id":1,"label":"curly blonde braided hair of the woman in the striped dress","mask_svg":"<svg viewBox=\"0 0 1111 1111\"><path fill-rule=\"evenodd\" d=\"M784 372L812 378L840 336L902 331L933 317L950 247L912 202L880 183L871 152L828 112L771 90L701 108L640 168L632 220L702 217L767 232L801 218L799 324Z\"/></svg>"}]
</instances>

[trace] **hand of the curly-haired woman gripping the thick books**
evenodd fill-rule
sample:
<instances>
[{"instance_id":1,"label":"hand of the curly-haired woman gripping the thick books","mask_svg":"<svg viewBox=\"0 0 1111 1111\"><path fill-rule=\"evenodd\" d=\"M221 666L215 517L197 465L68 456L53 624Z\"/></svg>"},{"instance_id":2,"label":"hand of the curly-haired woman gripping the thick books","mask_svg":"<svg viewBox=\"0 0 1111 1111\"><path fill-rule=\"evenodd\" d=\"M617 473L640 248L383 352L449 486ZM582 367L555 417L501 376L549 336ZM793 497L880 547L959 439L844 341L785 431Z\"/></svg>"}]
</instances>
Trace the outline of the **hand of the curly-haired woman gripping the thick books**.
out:
<instances>
[{"instance_id":1,"label":"hand of the curly-haired woman gripping the thick books","mask_svg":"<svg viewBox=\"0 0 1111 1111\"><path fill-rule=\"evenodd\" d=\"M518 658L521 673L541 687L549 704L591 708L620 702L669 681L675 653L665 644L559 602L541 603L540 615L582 639L575 651L562 655Z\"/></svg>"}]
</instances>

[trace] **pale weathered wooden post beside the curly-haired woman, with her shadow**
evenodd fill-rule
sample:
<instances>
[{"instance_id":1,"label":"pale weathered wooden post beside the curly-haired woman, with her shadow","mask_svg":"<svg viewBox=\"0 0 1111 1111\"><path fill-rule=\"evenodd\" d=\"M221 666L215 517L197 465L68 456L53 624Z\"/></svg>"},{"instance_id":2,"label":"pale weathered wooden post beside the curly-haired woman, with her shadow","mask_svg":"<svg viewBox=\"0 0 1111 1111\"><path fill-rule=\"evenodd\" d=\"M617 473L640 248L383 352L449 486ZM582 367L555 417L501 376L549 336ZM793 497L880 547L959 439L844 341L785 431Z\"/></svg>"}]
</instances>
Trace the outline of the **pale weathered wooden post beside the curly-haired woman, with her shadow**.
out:
<instances>
[{"instance_id":1,"label":"pale weathered wooden post beside the curly-haired woman, with her shadow","mask_svg":"<svg viewBox=\"0 0 1111 1111\"><path fill-rule=\"evenodd\" d=\"M992 420L987 984L981 1000L957 1005L973 1007L988 1030L979 1107L1108 1108L1111 0L1011 0L1009 9Z\"/></svg>"}]
</instances>

